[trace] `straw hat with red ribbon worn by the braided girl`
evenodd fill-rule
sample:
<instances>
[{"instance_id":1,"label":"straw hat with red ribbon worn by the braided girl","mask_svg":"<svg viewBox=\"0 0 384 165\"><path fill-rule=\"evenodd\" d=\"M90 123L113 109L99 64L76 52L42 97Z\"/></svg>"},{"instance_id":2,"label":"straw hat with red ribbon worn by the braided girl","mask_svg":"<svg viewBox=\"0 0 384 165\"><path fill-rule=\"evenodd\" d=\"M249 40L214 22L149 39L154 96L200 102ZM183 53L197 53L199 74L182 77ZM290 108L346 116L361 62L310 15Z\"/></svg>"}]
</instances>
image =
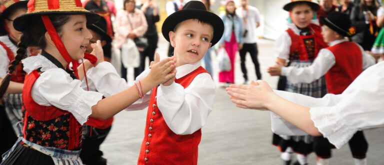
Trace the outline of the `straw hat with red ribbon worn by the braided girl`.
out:
<instances>
[{"instance_id":1,"label":"straw hat with red ribbon worn by the braided girl","mask_svg":"<svg viewBox=\"0 0 384 165\"><path fill-rule=\"evenodd\" d=\"M72 62L72 68L77 68L77 60L72 59L64 47L59 35L57 34L52 22L48 15L50 14L85 14L86 23L93 24L98 21L100 16L96 13L90 12L82 7L80 0L29 0L27 4L28 10L25 14L17 17L13 21L13 26L18 31L28 27L28 19L31 17L39 16L44 23L45 29L49 36L52 38L56 48L68 64ZM90 57L91 62L95 62L95 57ZM96 59L97 60L97 59ZM67 66L68 67L68 66Z\"/></svg>"}]
</instances>

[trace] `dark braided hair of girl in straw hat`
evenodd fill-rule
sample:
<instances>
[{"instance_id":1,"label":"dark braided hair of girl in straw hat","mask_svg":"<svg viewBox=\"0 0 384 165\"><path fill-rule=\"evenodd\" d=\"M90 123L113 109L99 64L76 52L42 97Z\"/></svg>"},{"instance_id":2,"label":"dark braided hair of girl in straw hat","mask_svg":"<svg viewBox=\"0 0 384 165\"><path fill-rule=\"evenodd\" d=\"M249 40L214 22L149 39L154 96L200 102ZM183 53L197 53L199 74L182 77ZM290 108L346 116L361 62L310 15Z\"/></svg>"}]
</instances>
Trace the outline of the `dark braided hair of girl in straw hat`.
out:
<instances>
[{"instance_id":1,"label":"dark braided hair of girl in straw hat","mask_svg":"<svg viewBox=\"0 0 384 165\"><path fill-rule=\"evenodd\" d=\"M69 20L68 14L50 14L48 16L57 32L60 32L62 25ZM10 62L11 64L8 67L8 73L1 81L0 99L4 95L6 89L8 88L10 77L11 77L10 74L12 74L15 67L18 64L20 64L21 59L26 57L26 48L29 46L36 46L42 49L42 48L45 48L46 46L46 41L45 41L46 29L41 20L41 17L40 16L28 17L25 23L28 24L28 28L25 28L23 29L23 31L21 31L22 35L20 37L20 42L18 42L17 44L17 47L18 47L16 51L17 54L15 55L14 60Z\"/></svg>"}]
</instances>

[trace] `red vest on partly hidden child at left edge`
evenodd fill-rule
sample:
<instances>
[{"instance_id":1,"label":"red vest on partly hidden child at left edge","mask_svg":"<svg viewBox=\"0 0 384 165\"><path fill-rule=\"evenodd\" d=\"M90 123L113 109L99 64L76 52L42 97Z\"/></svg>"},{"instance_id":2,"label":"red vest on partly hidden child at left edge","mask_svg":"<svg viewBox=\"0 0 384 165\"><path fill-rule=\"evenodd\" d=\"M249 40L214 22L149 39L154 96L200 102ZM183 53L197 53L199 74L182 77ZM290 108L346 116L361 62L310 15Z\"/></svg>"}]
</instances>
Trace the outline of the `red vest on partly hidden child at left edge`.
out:
<instances>
[{"instance_id":1,"label":"red vest on partly hidden child at left edge","mask_svg":"<svg viewBox=\"0 0 384 165\"><path fill-rule=\"evenodd\" d=\"M7 47L1 41L0 41L0 45L5 49L6 55L8 56L8 59L9 59L9 65L10 65L10 63L14 59L14 53L9 47ZM14 69L12 76L10 77L10 80L13 82L23 83L24 77L25 77L25 71L22 70L22 63L20 61L20 63L16 65L16 68Z\"/></svg>"}]
</instances>

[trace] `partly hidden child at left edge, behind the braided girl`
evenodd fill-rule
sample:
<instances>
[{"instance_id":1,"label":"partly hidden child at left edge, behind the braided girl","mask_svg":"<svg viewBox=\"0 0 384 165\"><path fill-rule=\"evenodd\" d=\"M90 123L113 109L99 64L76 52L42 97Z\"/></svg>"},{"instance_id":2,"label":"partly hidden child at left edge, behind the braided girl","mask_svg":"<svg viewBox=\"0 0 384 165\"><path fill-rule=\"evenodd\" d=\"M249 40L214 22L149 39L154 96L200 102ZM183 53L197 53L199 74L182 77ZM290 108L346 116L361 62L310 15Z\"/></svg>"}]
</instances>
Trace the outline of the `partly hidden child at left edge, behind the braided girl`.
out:
<instances>
[{"instance_id":1,"label":"partly hidden child at left edge, behind the braided girl","mask_svg":"<svg viewBox=\"0 0 384 165\"><path fill-rule=\"evenodd\" d=\"M8 0L1 6L0 15L0 82L8 71L10 62L14 59L17 42L20 41L21 32L14 29L13 19L26 12L28 1ZM30 53L28 51L27 56ZM24 83L25 72L18 64L11 75L7 93L0 101L0 155L12 147L17 140L19 130L17 123L21 120L21 90Z\"/></svg>"}]
</instances>

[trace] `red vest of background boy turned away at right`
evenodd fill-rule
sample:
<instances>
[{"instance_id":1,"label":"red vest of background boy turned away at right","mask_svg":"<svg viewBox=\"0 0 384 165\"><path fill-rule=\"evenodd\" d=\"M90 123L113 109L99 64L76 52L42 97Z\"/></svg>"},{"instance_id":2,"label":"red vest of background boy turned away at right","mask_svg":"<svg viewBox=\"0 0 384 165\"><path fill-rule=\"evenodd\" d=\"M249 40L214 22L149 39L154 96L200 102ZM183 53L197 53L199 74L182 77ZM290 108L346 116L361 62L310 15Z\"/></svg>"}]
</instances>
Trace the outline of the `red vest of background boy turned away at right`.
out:
<instances>
[{"instance_id":1,"label":"red vest of background boy turned away at right","mask_svg":"<svg viewBox=\"0 0 384 165\"><path fill-rule=\"evenodd\" d=\"M327 47L336 63L325 74L328 93L340 94L362 72L362 54L358 45L345 41Z\"/></svg>"}]
</instances>

